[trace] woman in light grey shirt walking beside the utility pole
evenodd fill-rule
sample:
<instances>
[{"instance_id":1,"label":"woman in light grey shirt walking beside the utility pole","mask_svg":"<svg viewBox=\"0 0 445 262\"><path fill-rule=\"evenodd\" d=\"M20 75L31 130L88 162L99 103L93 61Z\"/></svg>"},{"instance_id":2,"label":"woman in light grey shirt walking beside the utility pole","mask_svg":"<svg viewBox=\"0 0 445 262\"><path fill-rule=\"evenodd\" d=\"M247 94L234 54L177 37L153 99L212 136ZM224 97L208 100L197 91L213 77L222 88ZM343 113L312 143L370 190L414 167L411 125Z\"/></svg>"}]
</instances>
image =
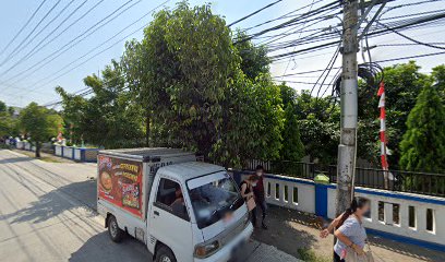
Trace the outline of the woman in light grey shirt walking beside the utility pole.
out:
<instances>
[{"instance_id":1,"label":"woman in light grey shirt walking beside the utility pole","mask_svg":"<svg viewBox=\"0 0 445 262\"><path fill-rule=\"evenodd\" d=\"M364 255L366 231L363 227L363 214L369 212L370 202L365 199L353 199L350 207L340 216L335 218L330 225L321 231L320 236L325 238L334 230L337 242L334 246L334 261L344 262L351 251L358 255ZM350 255L350 254L349 254ZM349 260L349 257L348 257Z\"/></svg>"}]
</instances>

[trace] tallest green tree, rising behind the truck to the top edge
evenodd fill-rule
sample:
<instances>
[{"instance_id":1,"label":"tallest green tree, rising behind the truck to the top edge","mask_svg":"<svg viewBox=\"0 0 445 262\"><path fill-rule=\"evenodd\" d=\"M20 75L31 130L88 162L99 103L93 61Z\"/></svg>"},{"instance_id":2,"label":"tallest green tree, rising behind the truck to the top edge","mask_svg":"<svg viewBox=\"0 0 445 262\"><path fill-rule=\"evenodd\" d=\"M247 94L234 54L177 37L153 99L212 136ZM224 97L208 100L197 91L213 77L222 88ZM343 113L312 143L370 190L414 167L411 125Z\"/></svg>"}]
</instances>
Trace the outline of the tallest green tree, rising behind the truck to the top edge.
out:
<instances>
[{"instance_id":1,"label":"tallest green tree, rising behind the truck to the top edge","mask_svg":"<svg viewBox=\"0 0 445 262\"><path fill-rule=\"evenodd\" d=\"M130 88L146 111L147 136L153 124L152 135L207 155L220 133L237 60L230 31L209 4L183 1L157 12L142 43L128 43L122 57Z\"/></svg>"}]
</instances>

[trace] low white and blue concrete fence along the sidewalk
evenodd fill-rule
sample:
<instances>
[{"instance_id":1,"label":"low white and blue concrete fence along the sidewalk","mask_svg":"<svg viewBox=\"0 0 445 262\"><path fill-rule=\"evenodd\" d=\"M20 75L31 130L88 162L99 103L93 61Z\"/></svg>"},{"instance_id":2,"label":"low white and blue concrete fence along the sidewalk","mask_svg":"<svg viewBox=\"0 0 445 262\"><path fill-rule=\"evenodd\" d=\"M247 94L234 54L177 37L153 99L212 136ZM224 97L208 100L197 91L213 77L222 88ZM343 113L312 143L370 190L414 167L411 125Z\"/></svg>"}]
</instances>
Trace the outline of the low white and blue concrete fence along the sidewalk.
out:
<instances>
[{"instance_id":1,"label":"low white and blue concrete fence along the sidewalk","mask_svg":"<svg viewBox=\"0 0 445 262\"><path fill-rule=\"evenodd\" d=\"M240 182L252 172L233 172ZM266 201L326 218L336 213L336 184L267 174ZM356 196L371 202L364 221L368 233L393 240L445 251L445 198L380 189L356 188Z\"/></svg>"}]
</instances>

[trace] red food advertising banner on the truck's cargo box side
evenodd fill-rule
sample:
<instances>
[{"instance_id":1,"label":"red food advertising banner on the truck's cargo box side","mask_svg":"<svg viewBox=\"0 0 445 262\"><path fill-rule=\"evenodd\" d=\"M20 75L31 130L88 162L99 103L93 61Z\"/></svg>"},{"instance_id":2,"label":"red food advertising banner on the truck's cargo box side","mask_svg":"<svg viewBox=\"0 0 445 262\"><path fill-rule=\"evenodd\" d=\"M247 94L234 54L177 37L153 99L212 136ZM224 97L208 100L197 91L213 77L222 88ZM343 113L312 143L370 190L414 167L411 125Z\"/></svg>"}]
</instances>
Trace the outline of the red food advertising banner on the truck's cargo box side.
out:
<instances>
[{"instance_id":1,"label":"red food advertising banner on the truck's cargo box side","mask_svg":"<svg viewBox=\"0 0 445 262\"><path fill-rule=\"evenodd\" d=\"M99 155L98 167L99 198L142 217L142 163Z\"/></svg>"}]
</instances>

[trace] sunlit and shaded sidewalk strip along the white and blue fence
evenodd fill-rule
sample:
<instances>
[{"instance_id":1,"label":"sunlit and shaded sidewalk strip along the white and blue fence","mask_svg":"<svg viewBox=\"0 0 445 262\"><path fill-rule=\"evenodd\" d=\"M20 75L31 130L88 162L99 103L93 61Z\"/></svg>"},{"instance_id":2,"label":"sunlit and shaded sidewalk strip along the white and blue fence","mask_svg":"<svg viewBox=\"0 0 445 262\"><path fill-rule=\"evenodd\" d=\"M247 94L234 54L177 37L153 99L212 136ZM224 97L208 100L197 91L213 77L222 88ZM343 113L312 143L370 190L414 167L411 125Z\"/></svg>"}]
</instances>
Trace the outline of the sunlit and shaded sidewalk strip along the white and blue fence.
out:
<instances>
[{"instance_id":1,"label":"sunlit and shaded sidewalk strip along the white and blue fence","mask_svg":"<svg viewBox=\"0 0 445 262\"><path fill-rule=\"evenodd\" d=\"M332 261L334 238L318 237L318 223L313 214L269 205L267 230L255 229L254 239L277 247L298 259L311 262ZM369 236L376 262L445 261L445 252Z\"/></svg>"}]
</instances>

